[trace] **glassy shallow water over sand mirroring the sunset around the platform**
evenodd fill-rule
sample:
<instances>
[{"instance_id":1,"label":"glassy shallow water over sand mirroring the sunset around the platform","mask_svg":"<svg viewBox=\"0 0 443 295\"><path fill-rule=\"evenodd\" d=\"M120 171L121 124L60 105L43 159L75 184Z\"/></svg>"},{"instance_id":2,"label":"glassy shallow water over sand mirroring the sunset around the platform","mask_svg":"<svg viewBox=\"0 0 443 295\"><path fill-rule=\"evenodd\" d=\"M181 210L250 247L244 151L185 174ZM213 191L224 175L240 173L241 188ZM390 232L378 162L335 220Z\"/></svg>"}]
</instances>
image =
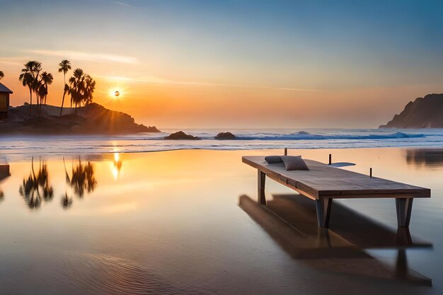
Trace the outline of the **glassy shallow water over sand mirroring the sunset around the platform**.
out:
<instances>
[{"instance_id":1,"label":"glassy shallow water over sand mirroring the sunset around the platform","mask_svg":"<svg viewBox=\"0 0 443 295\"><path fill-rule=\"evenodd\" d=\"M257 185L255 170L241 163L241 156L280 151L183 150L8 158L11 175L0 176L0 294L421 294L443 289L442 150L289 153L323 162L332 153L334 162L357 164L346 169L368 173L373 168L377 177L430 187L431 199L414 201L410 234L432 248L406 250L406 257L408 268L432 279L434 287L390 277L396 271L395 248L363 249L365 254L358 249L357 258L294 257L276 238L275 231L287 230L284 225L270 229L270 216L253 213L253 205L238 206L242 195L255 199ZM268 180L267 198L277 195L294 192ZM339 203L396 229L393 199ZM339 236L333 227L330 235ZM337 239L348 243L345 236Z\"/></svg>"}]
</instances>

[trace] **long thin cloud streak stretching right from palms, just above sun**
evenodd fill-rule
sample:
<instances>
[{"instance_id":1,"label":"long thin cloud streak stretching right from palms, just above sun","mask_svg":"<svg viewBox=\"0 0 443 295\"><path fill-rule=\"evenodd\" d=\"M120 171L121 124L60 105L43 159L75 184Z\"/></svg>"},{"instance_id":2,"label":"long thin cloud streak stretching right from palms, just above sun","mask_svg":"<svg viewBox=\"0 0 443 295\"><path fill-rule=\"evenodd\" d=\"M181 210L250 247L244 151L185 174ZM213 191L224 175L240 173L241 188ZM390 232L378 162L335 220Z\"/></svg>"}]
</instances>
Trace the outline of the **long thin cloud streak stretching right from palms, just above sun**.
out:
<instances>
[{"instance_id":1,"label":"long thin cloud streak stretching right from palms, just above sun","mask_svg":"<svg viewBox=\"0 0 443 295\"><path fill-rule=\"evenodd\" d=\"M98 76L98 75L96 75ZM230 88L253 88L253 89L269 89L278 91L322 91L319 89L307 89L307 88L290 88L290 87L272 87L272 86L246 86L246 85L234 85L226 83L208 83L199 81L175 81L170 79L163 79L158 76L149 75L137 78L130 78L125 76L98 76L100 79L105 79L113 82L125 82L125 83L156 83L156 84L170 84L170 85L184 85L184 86L209 86L209 87L230 87Z\"/></svg>"}]
</instances>

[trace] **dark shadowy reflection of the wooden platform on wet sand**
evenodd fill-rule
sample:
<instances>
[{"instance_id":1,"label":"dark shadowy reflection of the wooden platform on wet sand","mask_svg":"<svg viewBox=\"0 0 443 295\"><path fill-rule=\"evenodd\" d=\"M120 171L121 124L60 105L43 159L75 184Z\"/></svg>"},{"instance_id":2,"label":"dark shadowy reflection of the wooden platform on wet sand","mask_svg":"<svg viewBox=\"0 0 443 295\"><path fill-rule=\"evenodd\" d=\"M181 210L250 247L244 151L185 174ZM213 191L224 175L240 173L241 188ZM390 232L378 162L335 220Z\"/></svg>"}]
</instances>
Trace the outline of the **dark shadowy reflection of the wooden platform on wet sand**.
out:
<instances>
[{"instance_id":1,"label":"dark shadowy reflection of the wooden platform on wet sand","mask_svg":"<svg viewBox=\"0 0 443 295\"><path fill-rule=\"evenodd\" d=\"M410 236L407 229L392 231L335 203L330 229L317 226L313 202L297 195L274 195L267 207L241 196L239 206L292 258L322 270L379 279L404 279L431 285L430 278L408 269L406 248L432 248ZM367 248L398 250L394 270L364 252Z\"/></svg>"}]
</instances>

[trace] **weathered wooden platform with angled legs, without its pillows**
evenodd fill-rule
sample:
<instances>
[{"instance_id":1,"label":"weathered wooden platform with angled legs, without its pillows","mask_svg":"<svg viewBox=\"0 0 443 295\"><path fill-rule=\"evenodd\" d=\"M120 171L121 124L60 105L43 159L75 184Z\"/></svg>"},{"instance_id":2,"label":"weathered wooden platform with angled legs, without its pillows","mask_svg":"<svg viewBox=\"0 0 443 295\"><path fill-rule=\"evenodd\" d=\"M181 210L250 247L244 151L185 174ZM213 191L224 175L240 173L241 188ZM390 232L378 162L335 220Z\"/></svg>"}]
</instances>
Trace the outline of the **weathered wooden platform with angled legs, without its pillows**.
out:
<instances>
[{"instance_id":1,"label":"weathered wooden platform with angled legs, without its pillows","mask_svg":"<svg viewBox=\"0 0 443 295\"><path fill-rule=\"evenodd\" d=\"M265 176L316 201L318 225L328 227L333 199L395 198L398 226L409 226L413 198L430 197L430 189L334 168L305 160L310 170L287 171L283 163L269 164L264 156L243 156L258 169L258 202L266 204Z\"/></svg>"}]
</instances>

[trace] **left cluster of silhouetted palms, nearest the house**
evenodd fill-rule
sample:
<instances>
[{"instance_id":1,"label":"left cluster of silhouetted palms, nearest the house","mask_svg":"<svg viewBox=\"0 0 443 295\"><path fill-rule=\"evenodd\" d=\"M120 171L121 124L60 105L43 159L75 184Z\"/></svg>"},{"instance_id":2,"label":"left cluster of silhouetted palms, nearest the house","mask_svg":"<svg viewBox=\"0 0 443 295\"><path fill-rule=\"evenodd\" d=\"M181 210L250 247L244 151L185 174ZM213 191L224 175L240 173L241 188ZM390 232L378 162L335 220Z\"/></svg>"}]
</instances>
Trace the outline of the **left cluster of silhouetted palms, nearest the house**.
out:
<instances>
[{"instance_id":1,"label":"left cluster of silhouetted palms, nearest the house","mask_svg":"<svg viewBox=\"0 0 443 295\"><path fill-rule=\"evenodd\" d=\"M37 100L37 108L39 114L41 113L42 104L46 104L47 98L47 86L52 84L54 77L47 71L42 71L42 63L35 60L24 64L24 68L21 70L18 79L22 82L23 86L29 88L30 95L30 108L29 115L33 113L33 93L35 93Z\"/></svg>"}]
</instances>

